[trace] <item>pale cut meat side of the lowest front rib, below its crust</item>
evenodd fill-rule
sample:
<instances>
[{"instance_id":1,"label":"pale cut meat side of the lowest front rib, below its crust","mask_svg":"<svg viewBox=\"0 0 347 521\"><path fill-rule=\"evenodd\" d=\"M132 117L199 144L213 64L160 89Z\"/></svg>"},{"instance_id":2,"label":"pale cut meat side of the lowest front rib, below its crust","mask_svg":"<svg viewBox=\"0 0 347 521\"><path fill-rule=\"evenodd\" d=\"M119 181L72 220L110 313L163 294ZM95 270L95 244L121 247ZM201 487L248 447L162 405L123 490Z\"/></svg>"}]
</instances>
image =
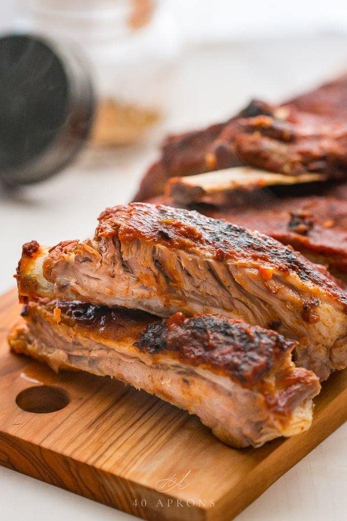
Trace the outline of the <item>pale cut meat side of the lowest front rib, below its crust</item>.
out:
<instances>
[{"instance_id":1,"label":"pale cut meat side of the lowest front rib, below its crust","mask_svg":"<svg viewBox=\"0 0 347 521\"><path fill-rule=\"evenodd\" d=\"M47 323L47 327L51 326ZM12 351L45 362L55 371L84 370L98 376L117 378L155 394L190 414L198 415L202 423L228 445L258 447L280 436L297 435L311 426L312 398L318 394L319 385L311 389L310 398L294 409L289 420L280 421L264 407L260 393L244 389L229 379L224 384L223 377L215 378L210 371L201 370L198 373L187 366L170 367L165 365L165 361L162 364L147 364L139 358L124 355L124 351L121 353L96 343L96 348L99 345L104 353L101 357L69 356L69 344L63 338L59 342L55 331L53 336L57 340L55 345L59 346L42 342L27 324L21 322L12 329L9 345ZM79 336L78 340L83 342L83 337Z\"/></svg>"}]
</instances>

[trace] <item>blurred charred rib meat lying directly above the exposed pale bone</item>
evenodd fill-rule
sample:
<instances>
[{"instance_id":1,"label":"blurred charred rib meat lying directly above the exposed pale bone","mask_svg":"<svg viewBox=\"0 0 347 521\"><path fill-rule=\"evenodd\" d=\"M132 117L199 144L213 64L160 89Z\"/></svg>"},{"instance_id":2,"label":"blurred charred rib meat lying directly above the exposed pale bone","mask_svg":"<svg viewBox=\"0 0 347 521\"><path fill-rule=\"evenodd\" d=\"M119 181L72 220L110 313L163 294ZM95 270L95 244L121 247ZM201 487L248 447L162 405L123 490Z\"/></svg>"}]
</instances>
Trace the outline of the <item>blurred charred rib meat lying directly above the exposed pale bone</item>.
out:
<instances>
[{"instance_id":1,"label":"blurred charred rib meat lying directly above the exposed pale bone","mask_svg":"<svg viewBox=\"0 0 347 521\"><path fill-rule=\"evenodd\" d=\"M266 107L262 114L239 118L224 128L207 152L208 169L225 168L235 157L284 175L319 172L345 179L347 125L295 107Z\"/></svg>"}]
</instances>

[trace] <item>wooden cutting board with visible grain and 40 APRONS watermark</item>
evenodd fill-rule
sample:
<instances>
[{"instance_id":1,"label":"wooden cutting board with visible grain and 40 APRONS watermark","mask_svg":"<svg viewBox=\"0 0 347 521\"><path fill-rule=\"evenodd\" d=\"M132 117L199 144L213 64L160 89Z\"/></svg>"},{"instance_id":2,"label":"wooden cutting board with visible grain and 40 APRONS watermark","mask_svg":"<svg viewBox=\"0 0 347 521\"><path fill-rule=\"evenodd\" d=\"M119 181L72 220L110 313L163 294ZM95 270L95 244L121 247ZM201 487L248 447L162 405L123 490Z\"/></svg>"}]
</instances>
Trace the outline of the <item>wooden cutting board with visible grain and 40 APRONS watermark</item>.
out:
<instances>
[{"instance_id":1,"label":"wooden cutting board with visible grain and 40 APRONS watermark","mask_svg":"<svg viewBox=\"0 0 347 521\"><path fill-rule=\"evenodd\" d=\"M15 291L0 297L0 464L144 519L229 521L347 418L340 371L315 400L309 431L231 449L196 416L145 392L10 354L16 301ZM16 399L40 411L69 403L40 414Z\"/></svg>"}]
</instances>

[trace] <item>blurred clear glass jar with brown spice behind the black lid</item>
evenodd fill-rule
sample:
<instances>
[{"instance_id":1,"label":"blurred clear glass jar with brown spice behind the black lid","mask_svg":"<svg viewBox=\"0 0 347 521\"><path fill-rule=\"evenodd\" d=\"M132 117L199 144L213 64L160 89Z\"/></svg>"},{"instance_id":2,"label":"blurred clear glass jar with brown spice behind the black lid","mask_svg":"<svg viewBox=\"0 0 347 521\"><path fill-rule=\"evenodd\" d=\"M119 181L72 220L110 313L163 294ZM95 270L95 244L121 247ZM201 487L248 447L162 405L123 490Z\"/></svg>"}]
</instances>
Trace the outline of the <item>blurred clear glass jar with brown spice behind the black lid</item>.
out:
<instances>
[{"instance_id":1,"label":"blurred clear glass jar with brown spice behind the black lid","mask_svg":"<svg viewBox=\"0 0 347 521\"><path fill-rule=\"evenodd\" d=\"M89 59L98 109L93 140L130 144L158 121L181 50L174 19L157 0L18 0L20 29L73 41Z\"/></svg>"}]
</instances>

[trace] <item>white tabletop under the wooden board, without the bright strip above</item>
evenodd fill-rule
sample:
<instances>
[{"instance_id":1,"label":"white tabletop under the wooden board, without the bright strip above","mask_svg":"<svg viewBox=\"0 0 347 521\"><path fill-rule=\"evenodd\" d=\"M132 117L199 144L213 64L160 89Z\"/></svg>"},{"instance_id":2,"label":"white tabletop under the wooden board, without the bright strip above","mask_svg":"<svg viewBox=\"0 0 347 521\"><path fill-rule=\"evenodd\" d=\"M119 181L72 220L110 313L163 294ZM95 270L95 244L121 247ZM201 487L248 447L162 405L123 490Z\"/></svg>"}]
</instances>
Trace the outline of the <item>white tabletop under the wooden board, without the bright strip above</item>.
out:
<instances>
[{"instance_id":1,"label":"white tabletop under the wooden board, without the bright strip above","mask_svg":"<svg viewBox=\"0 0 347 521\"><path fill-rule=\"evenodd\" d=\"M0 189L0 290L11 278L21 244L84 238L106 206L127 202L160 136L226 119L250 97L277 101L343 71L347 36L307 36L253 44L187 49L168 76L166 119L147 142L112 152L85 150L77 162L41 184ZM344 425L282 476L237 519L346 519L347 427ZM135 519L0 467L0 519L108 521Z\"/></svg>"}]
</instances>

